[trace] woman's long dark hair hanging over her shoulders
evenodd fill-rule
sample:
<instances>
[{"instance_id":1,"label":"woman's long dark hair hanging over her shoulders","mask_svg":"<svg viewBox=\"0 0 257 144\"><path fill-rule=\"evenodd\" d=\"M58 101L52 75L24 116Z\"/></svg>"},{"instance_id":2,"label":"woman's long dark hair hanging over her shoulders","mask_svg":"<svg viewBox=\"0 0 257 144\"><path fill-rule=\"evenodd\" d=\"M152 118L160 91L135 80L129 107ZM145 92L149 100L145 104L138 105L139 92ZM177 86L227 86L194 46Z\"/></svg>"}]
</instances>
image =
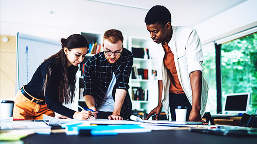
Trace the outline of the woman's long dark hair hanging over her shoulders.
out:
<instances>
[{"instance_id":1,"label":"woman's long dark hair hanging over her shoulders","mask_svg":"<svg viewBox=\"0 0 257 144\"><path fill-rule=\"evenodd\" d=\"M67 67L67 57L64 53L64 48L68 48L70 51L72 48L89 48L87 39L80 34L70 35L67 39L62 38L62 49L56 54L52 55L46 60L56 58L55 63L49 65L48 72L46 73L46 79L44 83L44 95L45 89L48 85L48 81L51 79L51 75L55 71L59 71L58 77L58 94L59 102L68 103L71 102L75 93L75 83L76 83L76 72L78 71L78 66L69 66ZM55 74L56 75L56 74Z\"/></svg>"}]
</instances>

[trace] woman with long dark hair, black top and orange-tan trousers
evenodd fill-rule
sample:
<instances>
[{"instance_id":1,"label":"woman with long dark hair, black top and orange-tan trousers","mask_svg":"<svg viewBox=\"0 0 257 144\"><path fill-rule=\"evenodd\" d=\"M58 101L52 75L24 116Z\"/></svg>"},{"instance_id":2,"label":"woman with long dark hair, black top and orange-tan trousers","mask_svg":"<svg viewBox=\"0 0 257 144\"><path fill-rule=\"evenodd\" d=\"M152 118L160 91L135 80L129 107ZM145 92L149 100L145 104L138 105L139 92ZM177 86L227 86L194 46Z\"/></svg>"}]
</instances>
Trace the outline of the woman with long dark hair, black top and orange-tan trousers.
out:
<instances>
[{"instance_id":1,"label":"woman with long dark hair, black top and orange-tan trousers","mask_svg":"<svg viewBox=\"0 0 257 144\"><path fill-rule=\"evenodd\" d=\"M83 61L88 42L80 34L61 39L62 49L52 55L37 68L31 81L23 86L15 96L13 118L42 120L43 115L85 120L91 111L73 111L63 105L73 101L76 72Z\"/></svg>"}]
</instances>

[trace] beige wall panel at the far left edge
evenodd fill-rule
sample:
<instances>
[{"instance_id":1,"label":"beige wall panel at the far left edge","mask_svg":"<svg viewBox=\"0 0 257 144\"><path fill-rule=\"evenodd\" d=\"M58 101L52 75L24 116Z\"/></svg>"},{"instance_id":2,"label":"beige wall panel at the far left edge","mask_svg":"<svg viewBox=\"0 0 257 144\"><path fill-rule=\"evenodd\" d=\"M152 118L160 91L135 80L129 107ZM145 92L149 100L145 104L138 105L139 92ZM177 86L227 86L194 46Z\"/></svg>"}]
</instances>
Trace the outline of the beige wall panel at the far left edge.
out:
<instances>
[{"instance_id":1,"label":"beige wall panel at the far left edge","mask_svg":"<svg viewBox=\"0 0 257 144\"><path fill-rule=\"evenodd\" d=\"M2 41L3 37L8 42ZM0 35L0 98L14 98L16 75L16 37Z\"/></svg>"}]
</instances>

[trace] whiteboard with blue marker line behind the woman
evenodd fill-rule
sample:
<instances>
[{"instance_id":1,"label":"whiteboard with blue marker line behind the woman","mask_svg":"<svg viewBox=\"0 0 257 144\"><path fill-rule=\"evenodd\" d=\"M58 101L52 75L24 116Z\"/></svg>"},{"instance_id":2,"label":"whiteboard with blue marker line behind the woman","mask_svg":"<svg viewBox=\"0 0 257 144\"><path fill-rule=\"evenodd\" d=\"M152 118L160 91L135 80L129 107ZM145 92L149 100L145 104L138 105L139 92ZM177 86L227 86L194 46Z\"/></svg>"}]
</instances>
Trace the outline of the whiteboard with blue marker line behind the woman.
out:
<instances>
[{"instance_id":1,"label":"whiteboard with blue marker line behind the woman","mask_svg":"<svg viewBox=\"0 0 257 144\"><path fill-rule=\"evenodd\" d=\"M18 32L16 41L15 93L31 81L34 72L45 59L62 48L61 38L58 42Z\"/></svg>"}]
</instances>

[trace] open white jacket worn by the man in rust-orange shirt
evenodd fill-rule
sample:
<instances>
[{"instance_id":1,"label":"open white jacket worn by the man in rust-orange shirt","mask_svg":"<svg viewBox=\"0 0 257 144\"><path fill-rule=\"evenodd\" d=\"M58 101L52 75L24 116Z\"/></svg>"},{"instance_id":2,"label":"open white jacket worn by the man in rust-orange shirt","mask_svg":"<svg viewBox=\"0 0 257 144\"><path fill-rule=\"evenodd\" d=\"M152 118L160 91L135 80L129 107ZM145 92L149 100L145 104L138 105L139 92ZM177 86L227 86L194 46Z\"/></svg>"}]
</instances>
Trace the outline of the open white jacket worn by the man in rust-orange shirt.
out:
<instances>
[{"instance_id":1,"label":"open white jacket worn by the man in rust-orange shirt","mask_svg":"<svg viewBox=\"0 0 257 144\"><path fill-rule=\"evenodd\" d=\"M203 62L203 55L200 39L197 35L197 32L191 27L172 26L172 30L173 34L170 42L168 43L168 46L174 54L175 67L177 70L179 82L192 105L193 96L189 75L194 71L203 72L201 66ZM163 65L163 57L165 52L161 44L156 44L154 42L151 43L149 52L157 70L157 77L159 80L162 80L163 90L161 103L168 118L170 80L168 77L167 69ZM209 88L207 81L202 76L201 116L203 116L205 111L208 98L208 90Z\"/></svg>"}]
</instances>

